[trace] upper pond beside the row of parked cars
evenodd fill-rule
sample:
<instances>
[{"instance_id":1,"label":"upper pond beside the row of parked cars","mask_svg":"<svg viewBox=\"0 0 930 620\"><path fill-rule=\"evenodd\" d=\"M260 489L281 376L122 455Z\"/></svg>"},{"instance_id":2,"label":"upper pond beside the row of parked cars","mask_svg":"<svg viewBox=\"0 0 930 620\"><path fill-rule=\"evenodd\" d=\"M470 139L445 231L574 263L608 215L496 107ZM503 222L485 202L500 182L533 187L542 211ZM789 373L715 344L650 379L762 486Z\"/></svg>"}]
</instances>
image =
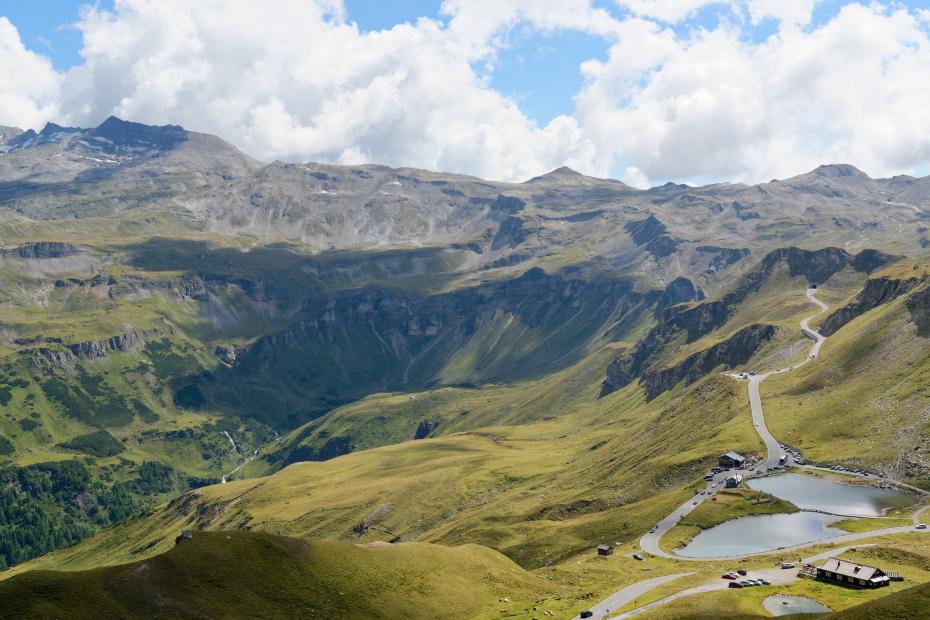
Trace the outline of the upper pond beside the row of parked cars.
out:
<instances>
[{"instance_id":1,"label":"upper pond beside the row of parked cars","mask_svg":"<svg viewBox=\"0 0 930 620\"><path fill-rule=\"evenodd\" d=\"M889 508L903 508L914 497L892 489L842 484L808 474L780 474L747 482L750 488L787 500L801 510L822 510L849 517L880 517Z\"/></svg>"}]
</instances>

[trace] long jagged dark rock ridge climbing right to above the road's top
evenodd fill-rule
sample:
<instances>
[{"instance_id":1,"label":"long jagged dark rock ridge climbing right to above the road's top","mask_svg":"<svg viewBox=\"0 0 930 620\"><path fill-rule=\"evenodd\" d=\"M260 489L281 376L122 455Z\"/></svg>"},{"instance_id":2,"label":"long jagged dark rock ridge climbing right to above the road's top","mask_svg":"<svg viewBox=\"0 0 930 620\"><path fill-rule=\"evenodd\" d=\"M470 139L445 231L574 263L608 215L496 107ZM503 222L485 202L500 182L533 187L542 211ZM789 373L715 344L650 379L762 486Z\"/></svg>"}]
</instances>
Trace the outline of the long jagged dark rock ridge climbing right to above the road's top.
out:
<instances>
[{"instance_id":1,"label":"long jagged dark rock ridge climbing right to above the road's top","mask_svg":"<svg viewBox=\"0 0 930 620\"><path fill-rule=\"evenodd\" d=\"M892 257L874 250L863 250L857 256L839 248L815 251L799 248L774 250L762 259L755 270L743 276L735 289L721 299L706 301L692 307L673 306L664 310L659 315L658 324L633 347L632 351L616 358L607 367L601 396L629 385L637 377L643 376L662 350L682 333L686 335L686 342L694 342L724 325L730 320L736 306L762 288L779 265L787 264L792 276L803 276L809 283L819 283L846 266L865 270L892 260Z\"/></svg>"}]
</instances>

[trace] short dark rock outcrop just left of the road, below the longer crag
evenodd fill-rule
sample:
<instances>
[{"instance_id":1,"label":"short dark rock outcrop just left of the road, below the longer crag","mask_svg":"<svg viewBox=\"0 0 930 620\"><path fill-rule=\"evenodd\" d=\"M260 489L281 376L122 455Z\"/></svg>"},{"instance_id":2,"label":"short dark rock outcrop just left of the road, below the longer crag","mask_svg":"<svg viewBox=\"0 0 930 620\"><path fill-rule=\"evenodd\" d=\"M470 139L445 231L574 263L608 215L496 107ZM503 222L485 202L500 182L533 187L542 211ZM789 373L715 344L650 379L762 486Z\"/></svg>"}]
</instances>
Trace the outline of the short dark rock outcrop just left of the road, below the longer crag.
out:
<instances>
[{"instance_id":1,"label":"short dark rock outcrop just left of the road, below the longer crag","mask_svg":"<svg viewBox=\"0 0 930 620\"><path fill-rule=\"evenodd\" d=\"M739 330L727 340L688 356L680 364L662 370L648 371L641 378L646 399L652 400L680 381L691 385L718 366L733 368L745 364L756 350L775 335L771 325L757 323Z\"/></svg>"}]
</instances>

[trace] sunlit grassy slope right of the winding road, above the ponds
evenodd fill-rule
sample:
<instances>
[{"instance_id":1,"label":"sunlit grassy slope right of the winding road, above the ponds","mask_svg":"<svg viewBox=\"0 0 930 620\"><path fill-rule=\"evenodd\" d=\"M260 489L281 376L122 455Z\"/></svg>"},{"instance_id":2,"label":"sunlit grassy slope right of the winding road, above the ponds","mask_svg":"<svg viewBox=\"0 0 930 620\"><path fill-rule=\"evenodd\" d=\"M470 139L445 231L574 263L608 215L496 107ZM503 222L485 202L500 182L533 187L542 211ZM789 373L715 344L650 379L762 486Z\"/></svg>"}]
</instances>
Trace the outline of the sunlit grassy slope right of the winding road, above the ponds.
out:
<instances>
[{"instance_id":1,"label":"sunlit grassy slope right of the winding road, above the ponds","mask_svg":"<svg viewBox=\"0 0 930 620\"><path fill-rule=\"evenodd\" d=\"M859 316L830 336L816 363L768 379L772 433L816 461L926 484L930 357L907 304L905 295Z\"/></svg>"}]
</instances>

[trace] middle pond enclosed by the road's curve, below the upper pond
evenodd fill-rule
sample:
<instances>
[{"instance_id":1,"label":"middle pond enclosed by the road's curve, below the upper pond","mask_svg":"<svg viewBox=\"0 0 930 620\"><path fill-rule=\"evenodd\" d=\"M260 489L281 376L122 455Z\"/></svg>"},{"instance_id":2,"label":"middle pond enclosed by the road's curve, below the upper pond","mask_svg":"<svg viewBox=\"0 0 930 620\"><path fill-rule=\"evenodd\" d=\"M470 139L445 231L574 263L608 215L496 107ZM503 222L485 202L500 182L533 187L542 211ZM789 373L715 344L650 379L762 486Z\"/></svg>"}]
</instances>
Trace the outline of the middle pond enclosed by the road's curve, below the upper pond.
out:
<instances>
[{"instance_id":1,"label":"middle pond enclosed by the road's curve, below the upper pond","mask_svg":"<svg viewBox=\"0 0 930 620\"><path fill-rule=\"evenodd\" d=\"M689 558L717 558L792 547L846 534L830 527L841 519L819 512L740 517L702 531L675 552Z\"/></svg>"}]
</instances>

